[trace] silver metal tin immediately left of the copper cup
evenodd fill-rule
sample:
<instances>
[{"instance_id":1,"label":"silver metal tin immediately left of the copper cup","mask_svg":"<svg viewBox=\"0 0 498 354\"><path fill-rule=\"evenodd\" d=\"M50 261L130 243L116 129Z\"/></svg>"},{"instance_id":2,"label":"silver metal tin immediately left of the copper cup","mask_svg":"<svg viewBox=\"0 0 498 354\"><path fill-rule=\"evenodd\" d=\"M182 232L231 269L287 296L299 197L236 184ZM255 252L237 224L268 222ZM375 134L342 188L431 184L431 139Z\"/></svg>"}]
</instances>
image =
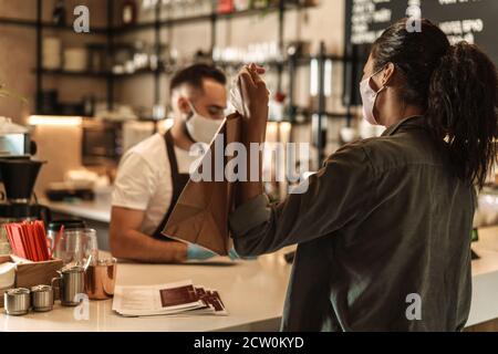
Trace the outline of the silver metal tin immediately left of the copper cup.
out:
<instances>
[{"instance_id":1,"label":"silver metal tin immediately left of the copper cup","mask_svg":"<svg viewBox=\"0 0 498 354\"><path fill-rule=\"evenodd\" d=\"M52 279L52 288L59 289L61 303L64 306L76 306L85 294L85 269L80 266L58 271L59 277Z\"/></svg>"}]
</instances>

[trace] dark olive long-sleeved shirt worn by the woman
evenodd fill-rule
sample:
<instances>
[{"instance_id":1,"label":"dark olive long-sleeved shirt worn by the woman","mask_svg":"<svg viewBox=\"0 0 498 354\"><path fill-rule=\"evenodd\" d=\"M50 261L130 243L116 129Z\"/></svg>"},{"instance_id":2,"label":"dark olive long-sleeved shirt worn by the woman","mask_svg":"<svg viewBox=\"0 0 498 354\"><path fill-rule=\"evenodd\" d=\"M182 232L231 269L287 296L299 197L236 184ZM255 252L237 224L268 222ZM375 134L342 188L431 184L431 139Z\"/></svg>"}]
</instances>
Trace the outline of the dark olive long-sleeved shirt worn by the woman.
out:
<instances>
[{"instance_id":1,"label":"dark olive long-sleeved shirt worn by the woman","mask_svg":"<svg viewBox=\"0 0 498 354\"><path fill-rule=\"evenodd\" d=\"M249 200L230 226L241 256L299 243L286 331L458 331L475 200L417 116L341 148L305 194Z\"/></svg>"}]
</instances>

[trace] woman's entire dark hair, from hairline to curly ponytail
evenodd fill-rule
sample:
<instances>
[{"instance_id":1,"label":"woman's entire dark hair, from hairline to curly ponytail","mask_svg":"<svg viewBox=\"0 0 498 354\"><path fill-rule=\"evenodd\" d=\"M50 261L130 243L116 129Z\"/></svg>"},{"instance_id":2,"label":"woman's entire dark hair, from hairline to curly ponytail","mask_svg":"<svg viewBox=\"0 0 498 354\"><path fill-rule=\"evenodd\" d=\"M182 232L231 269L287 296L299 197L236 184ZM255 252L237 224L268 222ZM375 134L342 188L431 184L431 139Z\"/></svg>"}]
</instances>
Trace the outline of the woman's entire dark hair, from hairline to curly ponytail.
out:
<instances>
[{"instance_id":1,"label":"woman's entire dark hair, from hairline to curly ponytail","mask_svg":"<svg viewBox=\"0 0 498 354\"><path fill-rule=\"evenodd\" d=\"M408 31L407 20L391 25L372 48L374 70L393 63L404 77L405 104L426 112L427 126L455 173L481 188L497 159L498 79L491 60L476 45L450 45L428 20Z\"/></svg>"}]
</instances>

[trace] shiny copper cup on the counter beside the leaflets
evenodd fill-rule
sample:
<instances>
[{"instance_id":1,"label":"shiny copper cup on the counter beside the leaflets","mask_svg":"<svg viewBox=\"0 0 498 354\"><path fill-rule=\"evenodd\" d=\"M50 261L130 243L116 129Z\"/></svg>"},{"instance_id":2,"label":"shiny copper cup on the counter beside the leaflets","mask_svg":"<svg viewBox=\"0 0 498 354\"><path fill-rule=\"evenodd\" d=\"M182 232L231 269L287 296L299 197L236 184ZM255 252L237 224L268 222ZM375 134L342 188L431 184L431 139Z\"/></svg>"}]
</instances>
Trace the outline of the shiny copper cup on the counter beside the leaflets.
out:
<instances>
[{"instance_id":1,"label":"shiny copper cup on the counter beside the leaflets","mask_svg":"<svg viewBox=\"0 0 498 354\"><path fill-rule=\"evenodd\" d=\"M116 259L101 259L90 264L85 272L85 292L91 300L106 300L114 295Z\"/></svg>"}]
</instances>

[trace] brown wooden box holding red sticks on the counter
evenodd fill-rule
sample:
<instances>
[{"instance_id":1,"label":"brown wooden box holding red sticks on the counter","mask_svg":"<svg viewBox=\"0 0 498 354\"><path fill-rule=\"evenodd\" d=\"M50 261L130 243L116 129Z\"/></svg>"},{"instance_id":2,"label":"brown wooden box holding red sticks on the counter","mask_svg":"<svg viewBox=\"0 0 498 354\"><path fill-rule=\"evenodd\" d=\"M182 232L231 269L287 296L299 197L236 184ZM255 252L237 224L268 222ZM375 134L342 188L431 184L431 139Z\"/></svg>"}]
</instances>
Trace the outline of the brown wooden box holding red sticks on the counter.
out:
<instances>
[{"instance_id":1,"label":"brown wooden box holding red sticks on the counter","mask_svg":"<svg viewBox=\"0 0 498 354\"><path fill-rule=\"evenodd\" d=\"M0 256L0 263L13 261L14 260L11 258L11 256ZM15 270L14 288L30 289L34 285L50 285L52 279L58 277L58 270L61 270L62 267L63 263L60 259L18 264ZM3 293L0 294L0 308L2 306Z\"/></svg>"}]
</instances>

